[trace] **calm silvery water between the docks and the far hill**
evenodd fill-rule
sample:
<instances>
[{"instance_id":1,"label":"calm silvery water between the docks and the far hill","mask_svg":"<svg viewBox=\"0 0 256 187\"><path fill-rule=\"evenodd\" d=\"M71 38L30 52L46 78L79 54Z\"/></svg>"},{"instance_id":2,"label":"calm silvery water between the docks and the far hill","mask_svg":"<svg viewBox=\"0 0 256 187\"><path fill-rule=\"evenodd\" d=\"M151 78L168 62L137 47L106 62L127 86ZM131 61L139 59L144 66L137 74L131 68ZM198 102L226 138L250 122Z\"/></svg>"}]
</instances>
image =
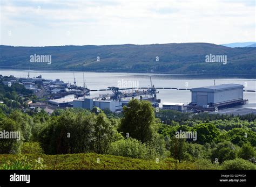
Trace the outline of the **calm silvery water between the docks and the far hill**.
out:
<instances>
[{"instance_id":1,"label":"calm silvery water between the docks and the far hill","mask_svg":"<svg viewBox=\"0 0 256 187\"><path fill-rule=\"evenodd\" d=\"M28 70L0 69L0 75L14 75L15 77L27 77ZM73 71L61 70L30 70L30 77L42 75L43 78L55 80L59 78L64 82L73 83ZM134 84L136 87L149 87L150 77L155 87L172 87L172 88L197 88L215 84L243 84L245 90L256 90L255 78L239 77L216 77L206 75L165 75L165 74L138 74L138 73L96 73L84 72L85 84L89 89L107 89L107 87L125 86L125 83ZM75 71L77 85L83 86L83 72ZM128 82L129 81L129 82ZM191 92L189 90L163 90L159 89L157 97L164 102L191 102ZM111 91L91 92L90 97L96 97L99 93L111 93ZM248 107L256 109L256 93L244 92L244 98L249 100ZM161 104L160 104L161 106Z\"/></svg>"}]
</instances>

